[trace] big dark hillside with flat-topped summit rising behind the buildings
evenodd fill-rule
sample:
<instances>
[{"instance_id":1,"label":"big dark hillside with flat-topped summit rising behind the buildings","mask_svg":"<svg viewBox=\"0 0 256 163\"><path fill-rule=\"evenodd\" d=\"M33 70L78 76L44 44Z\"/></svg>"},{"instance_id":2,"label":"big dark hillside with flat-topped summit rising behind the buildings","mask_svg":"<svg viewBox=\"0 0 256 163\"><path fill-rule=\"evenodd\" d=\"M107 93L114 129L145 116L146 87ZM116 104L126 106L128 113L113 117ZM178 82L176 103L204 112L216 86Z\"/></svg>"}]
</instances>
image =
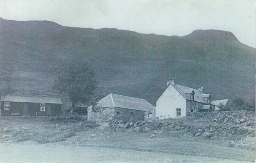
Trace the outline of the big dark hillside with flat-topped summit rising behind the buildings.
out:
<instances>
[{"instance_id":1,"label":"big dark hillside with flat-topped summit rising behind the buildings","mask_svg":"<svg viewBox=\"0 0 256 163\"><path fill-rule=\"evenodd\" d=\"M255 49L230 32L168 37L0 18L1 94L57 96L53 70L73 59L91 62L99 97L112 92L155 105L172 76L180 85L205 87L213 100L255 99Z\"/></svg>"}]
</instances>

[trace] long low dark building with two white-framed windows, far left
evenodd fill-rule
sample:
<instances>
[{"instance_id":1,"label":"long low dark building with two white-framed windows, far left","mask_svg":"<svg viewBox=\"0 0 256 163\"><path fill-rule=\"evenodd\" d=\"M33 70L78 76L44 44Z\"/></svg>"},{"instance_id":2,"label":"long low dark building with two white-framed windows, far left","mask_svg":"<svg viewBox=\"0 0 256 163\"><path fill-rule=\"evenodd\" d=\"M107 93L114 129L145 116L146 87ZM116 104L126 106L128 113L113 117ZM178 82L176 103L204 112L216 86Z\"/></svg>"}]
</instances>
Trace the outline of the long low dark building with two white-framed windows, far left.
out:
<instances>
[{"instance_id":1,"label":"long low dark building with two white-framed windows, far left","mask_svg":"<svg viewBox=\"0 0 256 163\"><path fill-rule=\"evenodd\" d=\"M1 115L56 116L61 114L60 98L1 96Z\"/></svg>"}]
</instances>

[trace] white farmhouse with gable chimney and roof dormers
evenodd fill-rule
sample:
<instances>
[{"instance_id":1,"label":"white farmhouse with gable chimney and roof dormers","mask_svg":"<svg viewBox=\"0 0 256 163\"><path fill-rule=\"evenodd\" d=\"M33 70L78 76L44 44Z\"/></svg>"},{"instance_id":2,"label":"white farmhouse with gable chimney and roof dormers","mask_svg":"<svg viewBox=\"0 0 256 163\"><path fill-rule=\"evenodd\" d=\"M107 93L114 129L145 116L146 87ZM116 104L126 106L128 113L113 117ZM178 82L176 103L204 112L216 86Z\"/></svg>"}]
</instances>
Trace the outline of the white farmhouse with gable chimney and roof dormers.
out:
<instances>
[{"instance_id":1,"label":"white farmhouse with gable chimney and roof dormers","mask_svg":"<svg viewBox=\"0 0 256 163\"><path fill-rule=\"evenodd\" d=\"M211 112L214 108L211 95L205 94L203 87L180 86L169 78L167 87L156 101L155 116L157 120L185 118L188 112Z\"/></svg>"}]
</instances>

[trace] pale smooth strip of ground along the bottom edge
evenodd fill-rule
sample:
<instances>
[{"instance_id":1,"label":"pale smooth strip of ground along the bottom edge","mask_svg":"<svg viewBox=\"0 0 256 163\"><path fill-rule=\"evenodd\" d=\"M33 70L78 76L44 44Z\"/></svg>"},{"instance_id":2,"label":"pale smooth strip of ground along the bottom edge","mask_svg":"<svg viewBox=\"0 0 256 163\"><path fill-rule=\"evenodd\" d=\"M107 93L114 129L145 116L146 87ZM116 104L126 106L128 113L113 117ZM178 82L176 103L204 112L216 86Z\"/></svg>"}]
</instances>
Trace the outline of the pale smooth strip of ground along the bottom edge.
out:
<instances>
[{"instance_id":1,"label":"pale smooth strip of ground along the bottom edge","mask_svg":"<svg viewBox=\"0 0 256 163\"><path fill-rule=\"evenodd\" d=\"M0 162L235 162L235 160L61 143L1 144Z\"/></svg>"}]
</instances>

